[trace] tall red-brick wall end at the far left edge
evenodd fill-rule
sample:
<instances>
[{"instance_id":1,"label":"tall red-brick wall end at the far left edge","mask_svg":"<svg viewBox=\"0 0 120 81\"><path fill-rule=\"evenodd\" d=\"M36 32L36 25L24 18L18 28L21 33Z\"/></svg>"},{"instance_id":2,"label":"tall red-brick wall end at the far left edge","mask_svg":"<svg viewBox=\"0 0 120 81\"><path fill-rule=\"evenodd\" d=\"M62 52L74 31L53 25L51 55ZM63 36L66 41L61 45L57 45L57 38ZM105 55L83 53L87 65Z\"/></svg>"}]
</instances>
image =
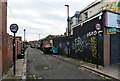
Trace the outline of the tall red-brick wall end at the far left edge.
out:
<instances>
[{"instance_id":1,"label":"tall red-brick wall end at the far left edge","mask_svg":"<svg viewBox=\"0 0 120 81\"><path fill-rule=\"evenodd\" d=\"M7 3L2 2L2 71L6 70L8 66L7 55ZM3 73L2 72L2 73Z\"/></svg>"}]
</instances>

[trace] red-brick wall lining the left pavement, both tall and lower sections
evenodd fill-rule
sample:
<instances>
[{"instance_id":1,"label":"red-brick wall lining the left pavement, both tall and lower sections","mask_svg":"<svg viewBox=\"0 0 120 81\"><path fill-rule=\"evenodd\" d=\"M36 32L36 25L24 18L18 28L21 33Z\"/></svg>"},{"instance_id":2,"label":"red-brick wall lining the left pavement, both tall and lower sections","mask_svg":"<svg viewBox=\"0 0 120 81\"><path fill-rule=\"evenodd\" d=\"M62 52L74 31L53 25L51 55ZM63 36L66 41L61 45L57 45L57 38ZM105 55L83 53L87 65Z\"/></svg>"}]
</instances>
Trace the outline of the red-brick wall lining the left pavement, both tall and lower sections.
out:
<instances>
[{"instance_id":1,"label":"red-brick wall lining the left pavement, both tall and lower sections","mask_svg":"<svg viewBox=\"0 0 120 81\"><path fill-rule=\"evenodd\" d=\"M7 34L7 2L0 0L0 78L13 63L13 36ZM18 40L21 52L21 40ZM16 40L17 44L17 40ZM17 47L16 47L17 59Z\"/></svg>"}]
</instances>

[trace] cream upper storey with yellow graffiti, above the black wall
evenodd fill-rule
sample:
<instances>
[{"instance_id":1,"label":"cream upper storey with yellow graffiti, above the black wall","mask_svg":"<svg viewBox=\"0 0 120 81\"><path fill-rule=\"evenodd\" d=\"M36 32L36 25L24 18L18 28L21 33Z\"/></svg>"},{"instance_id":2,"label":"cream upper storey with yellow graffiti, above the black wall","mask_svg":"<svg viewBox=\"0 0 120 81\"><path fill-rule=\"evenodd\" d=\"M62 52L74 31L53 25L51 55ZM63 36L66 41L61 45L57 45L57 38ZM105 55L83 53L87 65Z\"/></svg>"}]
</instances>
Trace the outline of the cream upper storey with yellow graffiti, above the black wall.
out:
<instances>
[{"instance_id":1,"label":"cream upper storey with yellow graffiti, above the black wall","mask_svg":"<svg viewBox=\"0 0 120 81\"><path fill-rule=\"evenodd\" d=\"M105 9L120 13L120 1L95 0L93 3L91 3L90 5L88 5L79 12L79 19L78 17L76 17L76 13L75 13L75 15L71 17L71 21L70 21L71 35L73 35L74 26Z\"/></svg>"}]
</instances>

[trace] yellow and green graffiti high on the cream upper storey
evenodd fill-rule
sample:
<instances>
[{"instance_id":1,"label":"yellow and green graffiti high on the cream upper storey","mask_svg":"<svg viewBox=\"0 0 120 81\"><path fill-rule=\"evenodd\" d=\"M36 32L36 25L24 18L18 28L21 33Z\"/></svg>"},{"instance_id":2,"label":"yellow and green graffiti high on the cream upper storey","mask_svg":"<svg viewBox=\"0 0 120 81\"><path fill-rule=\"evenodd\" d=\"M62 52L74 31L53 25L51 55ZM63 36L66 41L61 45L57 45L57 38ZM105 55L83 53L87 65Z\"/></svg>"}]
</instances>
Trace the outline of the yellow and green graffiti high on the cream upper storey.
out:
<instances>
[{"instance_id":1,"label":"yellow and green graffiti high on the cream upper storey","mask_svg":"<svg viewBox=\"0 0 120 81\"><path fill-rule=\"evenodd\" d=\"M118 12L118 11L120 10L120 2L119 2L119 3L117 3L117 2L106 2L106 3L99 9L99 11L102 11L102 10L105 10L105 9Z\"/></svg>"}]
</instances>

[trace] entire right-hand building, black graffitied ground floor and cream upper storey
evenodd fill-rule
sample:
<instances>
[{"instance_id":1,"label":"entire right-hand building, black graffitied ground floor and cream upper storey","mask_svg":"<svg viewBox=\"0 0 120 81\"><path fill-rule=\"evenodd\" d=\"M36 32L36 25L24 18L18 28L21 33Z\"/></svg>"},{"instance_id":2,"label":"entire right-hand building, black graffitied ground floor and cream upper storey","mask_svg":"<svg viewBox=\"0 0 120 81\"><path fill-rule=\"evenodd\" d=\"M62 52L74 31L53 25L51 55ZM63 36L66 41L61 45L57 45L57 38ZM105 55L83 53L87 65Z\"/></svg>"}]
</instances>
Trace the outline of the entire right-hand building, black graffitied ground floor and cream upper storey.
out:
<instances>
[{"instance_id":1,"label":"entire right-hand building, black graffitied ground floor and cream upper storey","mask_svg":"<svg viewBox=\"0 0 120 81\"><path fill-rule=\"evenodd\" d=\"M78 19L79 18L79 19ZM120 63L120 1L96 0L71 17L71 37L54 39L59 53L108 66ZM97 38L97 26L101 26ZM98 48L97 48L98 41ZM98 57L97 57L97 49Z\"/></svg>"}]
</instances>

